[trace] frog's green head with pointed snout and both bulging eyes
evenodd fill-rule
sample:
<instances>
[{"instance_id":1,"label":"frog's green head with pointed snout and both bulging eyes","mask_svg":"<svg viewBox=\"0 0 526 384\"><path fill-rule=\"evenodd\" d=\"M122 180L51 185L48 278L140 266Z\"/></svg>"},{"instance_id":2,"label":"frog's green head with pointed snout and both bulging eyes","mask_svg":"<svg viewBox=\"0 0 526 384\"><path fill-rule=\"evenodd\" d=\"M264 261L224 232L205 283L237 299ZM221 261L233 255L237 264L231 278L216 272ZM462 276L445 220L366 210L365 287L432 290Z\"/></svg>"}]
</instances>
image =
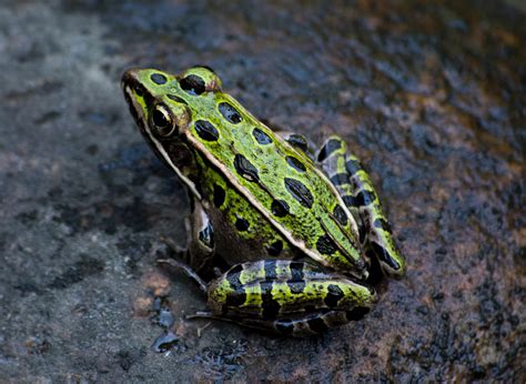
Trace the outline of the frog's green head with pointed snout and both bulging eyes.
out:
<instances>
[{"instance_id":1,"label":"frog's green head with pointed snout and both bulging eyes","mask_svg":"<svg viewBox=\"0 0 526 384\"><path fill-rule=\"evenodd\" d=\"M146 140L176 139L189 129L192 98L221 91L221 80L208 67L193 67L179 75L156 69L130 69L122 75L130 112Z\"/></svg>"}]
</instances>

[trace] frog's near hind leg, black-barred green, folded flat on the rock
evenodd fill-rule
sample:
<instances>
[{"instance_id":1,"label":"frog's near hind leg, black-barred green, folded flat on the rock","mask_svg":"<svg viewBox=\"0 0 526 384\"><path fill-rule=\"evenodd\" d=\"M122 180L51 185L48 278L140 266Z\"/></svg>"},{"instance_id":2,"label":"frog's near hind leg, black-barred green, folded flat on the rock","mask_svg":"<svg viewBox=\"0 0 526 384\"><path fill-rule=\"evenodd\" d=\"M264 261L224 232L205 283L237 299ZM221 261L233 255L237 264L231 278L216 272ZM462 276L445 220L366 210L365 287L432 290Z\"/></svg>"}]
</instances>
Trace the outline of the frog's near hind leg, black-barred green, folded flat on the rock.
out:
<instances>
[{"instance_id":1,"label":"frog's near hind leg, black-barred green, folded flat on the rock","mask_svg":"<svg viewBox=\"0 0 526 384\"><path fill-rule=\"evenodd\" d=\"M295 336L316 334L367 313L372 287L301 261L234 265L209 285L215 317Z\"/></svg>"}]
</instances>

